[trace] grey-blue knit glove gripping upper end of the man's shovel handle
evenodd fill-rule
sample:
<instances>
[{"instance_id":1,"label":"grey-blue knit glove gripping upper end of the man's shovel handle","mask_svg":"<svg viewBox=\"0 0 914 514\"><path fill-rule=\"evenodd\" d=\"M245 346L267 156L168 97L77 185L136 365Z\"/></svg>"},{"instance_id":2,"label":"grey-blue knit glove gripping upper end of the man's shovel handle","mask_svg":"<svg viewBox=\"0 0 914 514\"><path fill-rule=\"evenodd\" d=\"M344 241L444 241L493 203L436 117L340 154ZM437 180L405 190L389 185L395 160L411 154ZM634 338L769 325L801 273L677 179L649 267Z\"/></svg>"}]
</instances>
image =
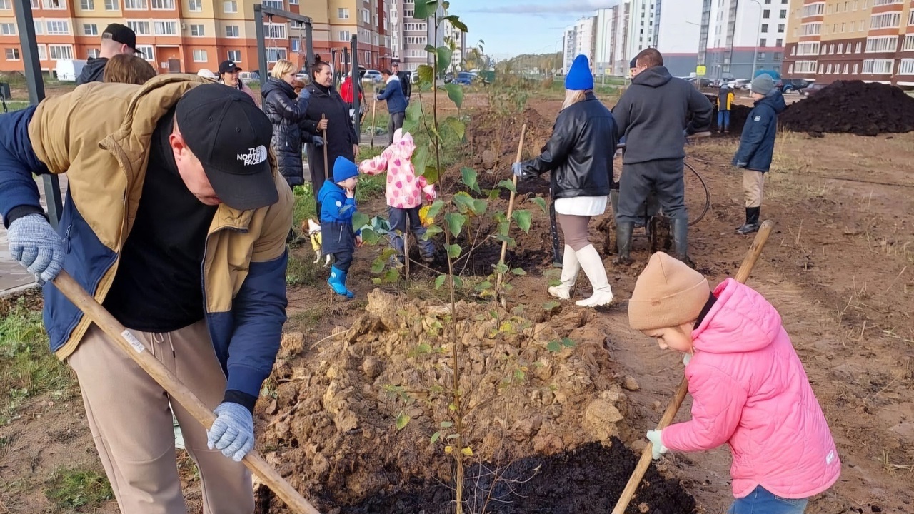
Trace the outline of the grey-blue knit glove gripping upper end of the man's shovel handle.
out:
<instances>
[{"instance_id":1,"label":"grey-blue knit glove gripping upper end of the man's shovel handle","mask_svg":"<svg viewBox=\"0 0 914 514\"><path fill-rule=\"evenodd\" d=\"M8 230L9 253L34 273L38 284L54 280L63 267L63 241L40 214L13 221Z\"/></svg>"}]
</instances>

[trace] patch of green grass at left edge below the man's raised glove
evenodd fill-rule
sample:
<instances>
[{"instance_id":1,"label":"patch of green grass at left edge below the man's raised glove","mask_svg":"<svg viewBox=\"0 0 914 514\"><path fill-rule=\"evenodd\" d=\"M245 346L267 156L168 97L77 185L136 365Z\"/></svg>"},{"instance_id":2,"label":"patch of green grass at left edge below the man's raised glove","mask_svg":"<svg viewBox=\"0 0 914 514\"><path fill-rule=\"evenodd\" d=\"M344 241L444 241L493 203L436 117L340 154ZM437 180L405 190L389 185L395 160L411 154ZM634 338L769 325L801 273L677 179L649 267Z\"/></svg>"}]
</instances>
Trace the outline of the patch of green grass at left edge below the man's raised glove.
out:
<instances>
[{"instance_id":1,"label":"patch of green grass at left edge below the man's raised glove","mask_svg":"<svg viewBox=\"0 0 914 514\"><path fill-rule=\"evenodd\" d=\"M0 319L0 424L15 417L16 408L37 395L52 391L56 398L69 397L74 383L69 369L48 350L41 313L29 309L20 298Z\"/></svg>"}]
</instances>

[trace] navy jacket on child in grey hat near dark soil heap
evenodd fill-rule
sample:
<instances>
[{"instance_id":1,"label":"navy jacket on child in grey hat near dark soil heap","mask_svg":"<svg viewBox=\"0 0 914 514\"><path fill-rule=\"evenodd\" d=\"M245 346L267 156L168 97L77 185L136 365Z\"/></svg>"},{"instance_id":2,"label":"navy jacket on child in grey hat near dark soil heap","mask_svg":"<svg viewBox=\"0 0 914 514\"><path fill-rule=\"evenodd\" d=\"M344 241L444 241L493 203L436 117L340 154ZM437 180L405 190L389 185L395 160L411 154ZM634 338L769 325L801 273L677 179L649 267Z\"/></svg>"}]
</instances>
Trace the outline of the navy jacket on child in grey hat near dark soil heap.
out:
<instances>
[{"instance_id":1,"label":"navy jacket on child in grey hat near dark soil heap","mask_svg":"<svg viewBox=\"0 0 914 514\"><path fill-rule=\"evenodd\" d=\"M787 109L781 91L771 93L755 102L739 137L739 150L733 156L733 166L745 163L746 169L768 172L774 155L774 138L778 133L778 113Z\"/></svg>"}]
</instances>

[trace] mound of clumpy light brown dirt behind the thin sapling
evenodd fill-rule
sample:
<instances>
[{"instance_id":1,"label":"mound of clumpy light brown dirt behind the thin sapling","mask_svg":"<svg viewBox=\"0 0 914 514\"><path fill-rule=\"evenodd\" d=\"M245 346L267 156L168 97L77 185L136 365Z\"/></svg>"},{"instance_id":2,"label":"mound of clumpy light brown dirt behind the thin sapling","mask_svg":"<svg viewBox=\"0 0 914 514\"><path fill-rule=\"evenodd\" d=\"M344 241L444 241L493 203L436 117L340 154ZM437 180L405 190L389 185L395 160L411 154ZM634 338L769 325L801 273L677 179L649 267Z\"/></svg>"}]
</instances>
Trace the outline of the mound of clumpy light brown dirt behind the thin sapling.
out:
<instances>
[{"instance_id":1,"label":"mound of clumpy light brown dirt behind the thin sapling","mask_svg":"<svg viewBox=\"0 0 914 514\"><path fill-rule=\"evenodd\" d=\"M476 462L506 466L610 443L621 432L633 437L621 424L627 400L606 336L585 309L525 315L461 302L451 313L376 290L366 313L306 361L278 361L275 401L259 411L271 419L261 429L266 458L325 510L413 490L409 484L452 482L452 458L441 442L430 444L449 421L451 346L442 325L451 316L471 407L464 441ZM556 343L562 337L573 348ZM410 418L402 430L399 414Z\"/></svg>"}]
</instances>

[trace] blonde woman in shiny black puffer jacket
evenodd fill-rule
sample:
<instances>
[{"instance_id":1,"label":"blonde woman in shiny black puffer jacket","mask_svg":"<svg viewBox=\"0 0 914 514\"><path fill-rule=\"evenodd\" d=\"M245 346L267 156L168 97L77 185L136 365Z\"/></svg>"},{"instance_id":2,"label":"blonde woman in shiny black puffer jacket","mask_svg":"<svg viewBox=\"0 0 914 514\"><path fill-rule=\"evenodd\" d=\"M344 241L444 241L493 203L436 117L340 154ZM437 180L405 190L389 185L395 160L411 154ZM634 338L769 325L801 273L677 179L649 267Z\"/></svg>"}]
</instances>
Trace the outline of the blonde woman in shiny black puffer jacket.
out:
<instances>
[{"instance_id":1,"label":"blonde woman in shiny black puffer jacket","mask_svg":"<svg viewBox=\"0 0 914 514\"><path fill-rule=\"evenodd\" d=\"M279 162L280 173L289 187L304 184L302 166L302 140L311 141L310 134L303 134L300 123L308 111L309 94L306 90L296 95L292 89L295 80L295 65L288 60L276 62L271 77L260 89L263 95L263 112L273 123L273 152ZM323 143L323 140L321 141Z\"/></svg>"}]
</instances>

